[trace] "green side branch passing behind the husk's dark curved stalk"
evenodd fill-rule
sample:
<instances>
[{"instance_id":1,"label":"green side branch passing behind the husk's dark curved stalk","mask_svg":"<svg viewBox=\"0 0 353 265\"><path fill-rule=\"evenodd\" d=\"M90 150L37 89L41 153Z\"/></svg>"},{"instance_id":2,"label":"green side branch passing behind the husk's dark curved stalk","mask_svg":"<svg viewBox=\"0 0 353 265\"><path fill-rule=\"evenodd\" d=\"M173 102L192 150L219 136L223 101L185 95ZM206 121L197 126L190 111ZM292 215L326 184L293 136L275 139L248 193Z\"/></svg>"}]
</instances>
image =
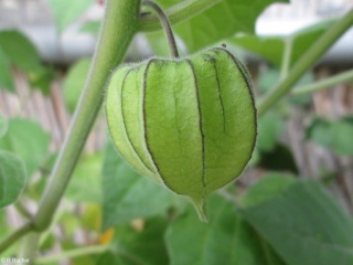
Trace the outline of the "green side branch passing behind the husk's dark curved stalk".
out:
<instances>
[{"instance_id":1,"label":"green side branch passing behind the husk's dark curved stalk","mask_svg":"<svg viewBox=\"0 0 353 265\"><path fill-rule=\"evenodd\" d=\"M188 0L165 11L172 24L191 19L199 13L212 8L223 0ZM157 31L161 29L159 19L156 15L143 15L140 20L140 31Z\"/></svg>"}]
</instances>

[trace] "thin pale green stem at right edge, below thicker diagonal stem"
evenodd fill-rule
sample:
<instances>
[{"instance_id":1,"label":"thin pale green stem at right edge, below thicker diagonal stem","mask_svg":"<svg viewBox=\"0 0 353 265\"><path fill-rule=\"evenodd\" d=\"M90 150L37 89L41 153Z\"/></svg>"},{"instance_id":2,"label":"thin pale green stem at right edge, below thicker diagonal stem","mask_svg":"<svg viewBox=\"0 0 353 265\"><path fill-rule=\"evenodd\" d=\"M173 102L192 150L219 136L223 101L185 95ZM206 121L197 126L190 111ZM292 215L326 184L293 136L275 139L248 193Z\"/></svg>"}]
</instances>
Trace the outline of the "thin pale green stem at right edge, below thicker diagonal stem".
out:
<instances>
[{"instance_id":1,"label":"thin pale green stem at right edge, below thicker diagonal stem","mask_svg":"<svg viewBox=\"0 0 353 265\"><path fill-rule=\"evenodd\" d=\"M315 82L310 85L296 87L293 91L291 91L290 95L295 96L295 95L307 94L307 93L329 88L334 85L342 84L349 81L353 81L353 70L346 71L344 73L334 75L329 78L324 78L322 81Z\"/></svg>"}]
</instances>

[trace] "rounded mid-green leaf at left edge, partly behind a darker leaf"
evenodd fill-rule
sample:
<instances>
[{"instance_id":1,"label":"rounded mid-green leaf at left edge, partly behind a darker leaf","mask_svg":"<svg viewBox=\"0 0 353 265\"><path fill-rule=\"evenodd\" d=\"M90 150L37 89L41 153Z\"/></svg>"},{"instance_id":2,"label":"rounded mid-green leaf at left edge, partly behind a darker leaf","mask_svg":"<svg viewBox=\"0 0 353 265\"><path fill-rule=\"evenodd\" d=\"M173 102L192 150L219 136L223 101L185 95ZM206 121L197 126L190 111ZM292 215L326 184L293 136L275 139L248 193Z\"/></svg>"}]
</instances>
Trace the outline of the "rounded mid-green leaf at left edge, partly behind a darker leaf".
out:
<instances>
[{"instance_id":1,"label":"rounded mid-green leaf at left edge, partly behind a darker leaf","mask_svg":"<svg viewBox=\"0 0 353 265\"><path fill-rule=\"evenodd\" d=\"M38 124L14 118L9 120L7 135L0 139L0 148L24 160L29 176L45 162L49 155L50 135Z\"/></svg>"}]
</instances>

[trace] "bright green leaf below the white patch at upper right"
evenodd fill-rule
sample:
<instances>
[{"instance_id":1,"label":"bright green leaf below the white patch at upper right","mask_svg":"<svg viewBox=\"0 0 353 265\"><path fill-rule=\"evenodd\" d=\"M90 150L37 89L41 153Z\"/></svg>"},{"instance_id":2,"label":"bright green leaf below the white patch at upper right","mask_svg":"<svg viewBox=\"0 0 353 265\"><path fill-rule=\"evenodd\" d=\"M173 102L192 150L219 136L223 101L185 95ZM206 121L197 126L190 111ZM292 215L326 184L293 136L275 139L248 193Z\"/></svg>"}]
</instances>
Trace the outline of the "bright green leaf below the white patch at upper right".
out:
<instances>
[{"instance_id":1,"label":"bright green leaf below the white patch at upper right","mask_svg":"<svg viewBox=\"0 0 353 265\"><path fill-rule=\"evenodd\" d=\"M233 36L228 39L228 41L235 45L244 47L249 52L263 56L276 67L280 68L285 46L288 45L289 42L291 42L292 49L290 59L290 65L292 66L332 23L332 20L320 22L297 31L291 35L261 36L245 34Z\"/></svg>"}]
</instances>

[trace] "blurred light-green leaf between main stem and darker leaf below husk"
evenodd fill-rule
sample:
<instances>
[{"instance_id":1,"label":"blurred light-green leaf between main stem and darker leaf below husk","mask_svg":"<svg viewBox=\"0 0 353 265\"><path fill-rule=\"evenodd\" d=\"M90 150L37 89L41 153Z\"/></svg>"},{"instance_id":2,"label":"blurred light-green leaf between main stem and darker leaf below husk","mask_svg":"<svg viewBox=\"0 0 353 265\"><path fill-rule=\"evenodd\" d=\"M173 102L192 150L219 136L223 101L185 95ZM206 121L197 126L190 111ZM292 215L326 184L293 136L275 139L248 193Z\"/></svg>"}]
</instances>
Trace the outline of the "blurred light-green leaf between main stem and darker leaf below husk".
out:
<instances>
[{"instance_id":1,"label":"blurred light-green leaf between main stem and darker leaf below husk","mask_svg":"<svg viewBox=\"0 0 353 265\"><path fill-rule=\"evenodd\" d=\"M73 173L65 197L76 202L101 202L100 152L83 156Z\"/></svg>"}]
</instances>

